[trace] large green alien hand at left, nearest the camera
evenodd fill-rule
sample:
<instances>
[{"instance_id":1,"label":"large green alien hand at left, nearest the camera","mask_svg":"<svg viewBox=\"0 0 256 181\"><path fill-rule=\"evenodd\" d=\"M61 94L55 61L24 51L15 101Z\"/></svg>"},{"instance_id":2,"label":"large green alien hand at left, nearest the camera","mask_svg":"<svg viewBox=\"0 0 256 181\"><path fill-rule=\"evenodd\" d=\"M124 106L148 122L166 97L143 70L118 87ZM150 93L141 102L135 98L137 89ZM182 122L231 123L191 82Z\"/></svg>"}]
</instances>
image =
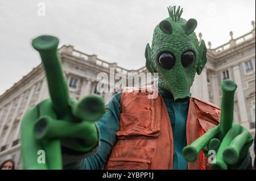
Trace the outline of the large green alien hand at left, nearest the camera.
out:
<instances>
[{"instance_id":1,"label":"large green alien hand at left, nearest the camera","mask_svg":"<svg viewBox=\"0 0 256 181\"><path fill-rule=\"evenodd\" d=\"M83 153L98 144L94 121L105 113L104 100L96 95L86 96L79 102L69 98L57 55L58 44L59 40L54 36L39 36L32 40L32 47L42 58L51 99L43 100L23 116L24 169L62 169L61 145ZM38 162L40 150L45 151L45 164Z\"/></svg>"}]
</instances>

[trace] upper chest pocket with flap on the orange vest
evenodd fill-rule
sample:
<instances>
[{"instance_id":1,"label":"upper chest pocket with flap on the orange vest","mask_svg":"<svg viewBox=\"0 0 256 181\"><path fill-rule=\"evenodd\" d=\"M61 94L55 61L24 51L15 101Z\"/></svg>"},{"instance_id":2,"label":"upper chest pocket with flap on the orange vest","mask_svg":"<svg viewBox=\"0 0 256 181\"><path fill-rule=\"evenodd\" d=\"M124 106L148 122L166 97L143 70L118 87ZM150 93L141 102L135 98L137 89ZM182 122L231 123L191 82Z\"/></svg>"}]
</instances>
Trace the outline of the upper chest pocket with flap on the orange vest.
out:
<instances>
[{"instance_id":1,"label":"upper chest pocket with flap on the orange vest","mask_svg":"<svg viewBox=\"0 0 256 181\"><path fill-rule=\"evenodd\" d=\"M159 100L148 99L146 94L132 98L123 100L118 139L158 138L161 120Z\"/></svg>"}]
</instances>

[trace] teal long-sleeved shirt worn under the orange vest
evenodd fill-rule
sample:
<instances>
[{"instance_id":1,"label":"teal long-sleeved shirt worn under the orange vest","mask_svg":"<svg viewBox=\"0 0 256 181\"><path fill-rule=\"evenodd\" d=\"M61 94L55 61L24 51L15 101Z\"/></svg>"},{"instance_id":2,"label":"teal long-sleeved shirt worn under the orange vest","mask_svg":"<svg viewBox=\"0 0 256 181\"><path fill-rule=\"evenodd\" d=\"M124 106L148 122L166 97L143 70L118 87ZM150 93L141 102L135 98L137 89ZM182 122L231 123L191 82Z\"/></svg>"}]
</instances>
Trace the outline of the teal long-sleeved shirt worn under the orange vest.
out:
<instances>
[{"instance_id":1,"label":"teal long-sleeved shirt worn under the orange vest","mask_svg":"<svg viewBox=\"0 0 256 181\"><path fill-rule=\"evenodd\" d=\"M187 170L187 161L182 156L182 149L186 146L186 121L188 115L188 103L175 103L172 94L159 89L166 103L167 111L171 120L174 137L174 169ZM110 99L106 113L96 122L100 131L100 146L97 152L82 159L79 169L103 169L109 158L110 152L117 141L115 133L119 131L119 116L121 92ZM165 159L163 157L163 159Z\"/></svg>"}]
</instances>

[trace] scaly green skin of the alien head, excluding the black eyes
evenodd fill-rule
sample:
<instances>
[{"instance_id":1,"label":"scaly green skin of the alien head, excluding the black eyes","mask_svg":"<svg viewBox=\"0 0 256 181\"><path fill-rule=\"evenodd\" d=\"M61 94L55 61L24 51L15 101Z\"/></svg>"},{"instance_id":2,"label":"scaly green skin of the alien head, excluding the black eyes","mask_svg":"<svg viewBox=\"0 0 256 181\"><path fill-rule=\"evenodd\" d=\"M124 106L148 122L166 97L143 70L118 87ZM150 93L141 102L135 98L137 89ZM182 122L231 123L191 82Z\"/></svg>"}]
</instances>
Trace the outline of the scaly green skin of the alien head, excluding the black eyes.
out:
<instances>
[{"instance_id":1,"label":"scaly green skin of the alien head, excluding the black eyes","mask_svg":"<svg viewBox=\"0 0 256 181\"><path fill-rule=\"evenodd\" d=\"M159 25L154 30L152 49L149 45L146 49L151 57L146 57L147 68L151 72L158 72L158 84L164 89L170 91L174 95L175 100L189 98L190 87L194 81L196 72L198 74L204 68L206 63L206 47L202 41L200 47L196 37L196 33L192 32L190 35L185 33L184 27L186 21L180 18L179 21L173 21L171 18L165 19L170 22L172 26L172 34L164 33ZM181 65L180 57L184 52L191 50L195 54L195 60L187 68ZM174 67L171 69L164 69L159 64L159 56L163 52L171 52L176 57Z\"/></svg>"}]
</instances>

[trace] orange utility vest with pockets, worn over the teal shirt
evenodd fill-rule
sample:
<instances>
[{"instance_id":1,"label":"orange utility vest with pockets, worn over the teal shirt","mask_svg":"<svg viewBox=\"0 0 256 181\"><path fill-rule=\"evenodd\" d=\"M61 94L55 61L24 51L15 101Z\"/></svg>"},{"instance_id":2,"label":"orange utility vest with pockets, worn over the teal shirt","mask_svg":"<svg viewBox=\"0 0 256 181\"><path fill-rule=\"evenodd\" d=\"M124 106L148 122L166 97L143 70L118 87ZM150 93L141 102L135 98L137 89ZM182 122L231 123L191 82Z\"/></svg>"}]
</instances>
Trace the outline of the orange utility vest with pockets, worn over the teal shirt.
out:
<instances>
[{"instance_id":1,"label":"orange utility vest with pockets, worn over the teal shirt","mask_svg":"<svg viewBox=\"0 0 256 181\"><path fill-rule=\"evenodd\" d=\"M164 100L157 89L140 87L137 92L134 90L126 87L122 91L118 141L105 169L172 169L174 141ZM150 94L158 96L148 99ZM191 98L186 126L187 145L219 123L220 108ZM203 152L195 162L188 162L188 169L209 169Z\"/></svg>"}]
</instances>

